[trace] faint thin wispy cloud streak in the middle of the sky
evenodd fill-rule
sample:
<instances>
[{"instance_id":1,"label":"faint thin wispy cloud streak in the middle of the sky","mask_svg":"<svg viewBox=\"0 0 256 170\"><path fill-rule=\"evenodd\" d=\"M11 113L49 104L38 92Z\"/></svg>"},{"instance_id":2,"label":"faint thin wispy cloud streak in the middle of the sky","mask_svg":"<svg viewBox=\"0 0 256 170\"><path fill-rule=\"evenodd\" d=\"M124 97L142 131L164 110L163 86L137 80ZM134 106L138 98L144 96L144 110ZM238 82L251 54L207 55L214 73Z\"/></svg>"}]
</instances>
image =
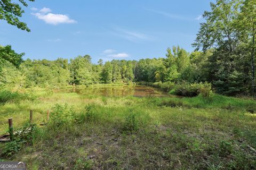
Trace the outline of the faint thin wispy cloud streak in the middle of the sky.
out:
<instances>
[{"instance_id":1,"label":"faint thin wispy cloud streak in the middle of the sky","mask_svg":"<svg viewBox=\"0 0 256 170\"><path fill-rule=\"evenodd\" d=\"M138 40L153 40L154 37L150 35L146 35L145 33L137 32L137 31L130 31L125 30L119 27L113 27L114 35L122 37L126 40L137 42Z\"/></svg>"}]
</instances>

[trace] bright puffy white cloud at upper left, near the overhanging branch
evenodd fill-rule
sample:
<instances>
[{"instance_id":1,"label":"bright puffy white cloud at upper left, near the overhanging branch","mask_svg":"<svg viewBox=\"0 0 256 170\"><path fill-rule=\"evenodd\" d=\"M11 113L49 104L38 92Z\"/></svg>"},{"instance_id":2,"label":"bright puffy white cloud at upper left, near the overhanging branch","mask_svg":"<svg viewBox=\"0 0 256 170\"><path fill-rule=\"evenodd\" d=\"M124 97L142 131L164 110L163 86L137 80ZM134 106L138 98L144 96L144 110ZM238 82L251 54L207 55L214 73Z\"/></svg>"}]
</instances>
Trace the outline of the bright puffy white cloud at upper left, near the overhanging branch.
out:
<instances>
[{"instance_id":1,"label":"bright puffy white cloud at upper left, near the overhanging branch","mask_svg":"<svg viewBox=\"0 0 256 170\"><path fill-rule=\"evenodd\" d=\"M60 23L76 23L75 20L69 19L67 15L63 14L43 14L43 13L32 13L35 15L39 20L43 20L45 23L58 25Z\"/></svg>"}]
</instances>

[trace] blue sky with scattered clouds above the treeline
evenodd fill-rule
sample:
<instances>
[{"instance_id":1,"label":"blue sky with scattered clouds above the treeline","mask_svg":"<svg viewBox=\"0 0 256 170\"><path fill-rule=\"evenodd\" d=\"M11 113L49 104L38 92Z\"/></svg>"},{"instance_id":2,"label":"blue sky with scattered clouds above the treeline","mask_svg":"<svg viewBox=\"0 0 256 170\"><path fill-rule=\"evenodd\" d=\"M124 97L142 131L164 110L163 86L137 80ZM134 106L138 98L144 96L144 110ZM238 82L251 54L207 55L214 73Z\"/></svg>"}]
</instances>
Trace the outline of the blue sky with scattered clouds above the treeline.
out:
<instances>
[{"instance_id":1,"label":"blue sky with scattered clouds above the treeline","mask_svg":"<svg viewBox=\"0 0 256 170\"><path fill-rule=\"evenodd\" d=\"M191 52L210 0L36 0L20 19L31 32L0 21L0 44L23 57L55 60L89 54L102 60L164 57L167 47Z\"/></svg>"}]
</instances>

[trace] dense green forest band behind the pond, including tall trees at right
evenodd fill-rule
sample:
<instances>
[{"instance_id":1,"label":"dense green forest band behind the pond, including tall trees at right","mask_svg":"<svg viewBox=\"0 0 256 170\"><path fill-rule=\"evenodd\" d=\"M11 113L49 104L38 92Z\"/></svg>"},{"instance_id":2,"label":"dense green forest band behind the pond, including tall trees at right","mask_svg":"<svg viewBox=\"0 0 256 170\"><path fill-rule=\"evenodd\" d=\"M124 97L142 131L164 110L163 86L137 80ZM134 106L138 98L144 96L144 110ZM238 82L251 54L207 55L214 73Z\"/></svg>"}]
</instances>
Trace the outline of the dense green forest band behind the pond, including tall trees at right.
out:
<instances>
[{"instance_id":1,"label":"dense green forest band behind the pond, including tall trees at right","mask_svg":"<svg viewBox=\"0 0 256 170\"><path fill-rule=\"evenodd\" d=\"M113 60L98 64L90 55L68 61L22 60L10 46L1 46L1 85L19 88L129 82L210 82L225 95L254 95L256 2L224 1L211 3L205 22L197 34L195 51L177 46L165 57L139 61ZM202 51L199 51L202 50Z\"/></svg>"}]
</instances>

